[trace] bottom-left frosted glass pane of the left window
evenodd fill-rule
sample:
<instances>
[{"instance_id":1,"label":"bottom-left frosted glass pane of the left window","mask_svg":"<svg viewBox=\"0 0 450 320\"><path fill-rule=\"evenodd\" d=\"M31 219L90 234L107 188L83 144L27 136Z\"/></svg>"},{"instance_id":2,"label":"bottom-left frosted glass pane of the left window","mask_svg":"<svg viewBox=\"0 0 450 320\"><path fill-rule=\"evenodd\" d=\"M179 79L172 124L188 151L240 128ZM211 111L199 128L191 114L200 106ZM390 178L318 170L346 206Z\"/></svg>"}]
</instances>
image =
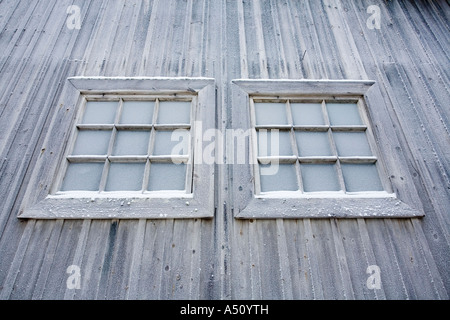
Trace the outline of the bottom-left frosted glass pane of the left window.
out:
<instances>
[{"instance_id":1,"label":"bottom-left frosted glass pane of the left window","mask_svg":"<svg viewBox=\"0 0 450 320\"><path fill-rule=\"evenodd\" d=\"M62 191L98 191L102 163L70 163L61 187Z\"/></svg>"}]
</instances>

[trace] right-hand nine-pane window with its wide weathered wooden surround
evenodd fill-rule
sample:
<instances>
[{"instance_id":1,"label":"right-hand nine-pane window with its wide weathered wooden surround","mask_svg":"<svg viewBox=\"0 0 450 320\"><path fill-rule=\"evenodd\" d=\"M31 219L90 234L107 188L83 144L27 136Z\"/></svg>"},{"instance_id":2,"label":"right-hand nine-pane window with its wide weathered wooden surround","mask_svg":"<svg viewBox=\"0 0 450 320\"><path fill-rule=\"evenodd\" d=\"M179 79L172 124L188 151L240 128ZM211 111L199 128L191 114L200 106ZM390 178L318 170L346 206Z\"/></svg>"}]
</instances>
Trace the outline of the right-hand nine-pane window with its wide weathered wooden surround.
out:
<instances>
[{"instance_id":1,"label":"right-hand nine-pane window with its wide weathered wooden surround","mask_svg":"<svg viewBox=\"0 0 450 320\"><path fill-rule=\"evenodd\" d=\"M251 130L249 164L233 171L235 217L422 215L388 179L366 103L373 81L233 84L233 105L242 106L233 123Z\"/></svg>"}]
</instances>

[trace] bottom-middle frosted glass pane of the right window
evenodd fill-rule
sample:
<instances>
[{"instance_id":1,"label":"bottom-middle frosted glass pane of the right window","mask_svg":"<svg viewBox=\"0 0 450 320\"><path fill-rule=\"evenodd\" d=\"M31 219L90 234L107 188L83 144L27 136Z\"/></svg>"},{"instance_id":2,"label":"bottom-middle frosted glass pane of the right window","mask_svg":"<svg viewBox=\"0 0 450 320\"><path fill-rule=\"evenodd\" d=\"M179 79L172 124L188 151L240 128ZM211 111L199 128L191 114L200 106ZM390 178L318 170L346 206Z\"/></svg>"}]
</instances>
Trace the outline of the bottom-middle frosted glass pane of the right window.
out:
<instances>
[{"instance_id":1,"label":"bottom-middle frosted glass pane of the right window","mask_svg":"<svg viewBox=\"0 0 450 320\"><path fill-rule=\"evenodd\" d=\"M305 192L340 190L334 164L301 164Z\"/></svg>"}]
</instances>

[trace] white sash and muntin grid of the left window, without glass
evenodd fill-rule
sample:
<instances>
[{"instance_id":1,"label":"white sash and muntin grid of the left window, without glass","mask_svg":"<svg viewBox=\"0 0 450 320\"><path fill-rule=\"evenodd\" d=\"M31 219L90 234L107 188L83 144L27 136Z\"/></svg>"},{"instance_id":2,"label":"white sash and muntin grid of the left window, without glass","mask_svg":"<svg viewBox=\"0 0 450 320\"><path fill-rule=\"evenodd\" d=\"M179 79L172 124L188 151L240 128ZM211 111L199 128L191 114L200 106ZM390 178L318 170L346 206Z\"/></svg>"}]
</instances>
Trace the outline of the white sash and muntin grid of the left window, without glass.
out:
<instances>
[{"instance_id":1,"label":"white sash and muntin grid of the left window, without glass","mask_svg":"<svg viewBox=\"0 0 450 320\"><path fill-rule=\"evenodd\" d=\"M75 125L73 126L73 131L71 133L71 138L68 142L68 147L66 148L65 159L61 164L59 173L56 177L55 183L52 186L49 197L54 198L114 198L114 197L144 197L144 198L170 198L170 197L190 197L192 194L192 155L193 155L193 131L194 131L194 119L196 118L196 107L198 106L197 95L195 94L158 94L158 95L129 95L129 94L108 94L108 95L98 95L98 94L83 94L81 98L80 111L77 115ZM116 119L113 124L82 124L81 118L84 115L86 104L88 101L113 101L118 103L118 112L116 114ZM120 124L119 117L123 109L124 101L154 101L155 107L153 110L153 122L149 125L137 124ZM191 103L190 109L190 123L189 124L158 124L154 121L156 120L156 114L159 111L160 101L184 101ZM146 130L150 132L149 136L149 149L153 149L155 142L155 132L163 130L176 130L185 129L189 130L190 141L189 141L189 154L187 155L172 155L172 156L158 156L158 155L143 155L143 156L121 156L113 155L112 147L116 140L117 131L132 131L132 130ZM106 155L101 156L86 156L86 155L71 155L77 134L79 130L86 131L96 131L96 130L110 130L112 134L111 141L108 146L108 152ZM186 164L186 178L185 178L185 189L184 190L173 190L173 191L147 191L147 183L150 163L171 163L172 161L184 162ZM66 173L69 163L99 163L106 162L104 167L102 178L100 180L100 190L99 191L60 191L61 185ZM144 170L144 181L142 185L142 190L140 191L106 191L106 178L109 164L108 163L145 163Z\"/></svg>"}]
</instances>

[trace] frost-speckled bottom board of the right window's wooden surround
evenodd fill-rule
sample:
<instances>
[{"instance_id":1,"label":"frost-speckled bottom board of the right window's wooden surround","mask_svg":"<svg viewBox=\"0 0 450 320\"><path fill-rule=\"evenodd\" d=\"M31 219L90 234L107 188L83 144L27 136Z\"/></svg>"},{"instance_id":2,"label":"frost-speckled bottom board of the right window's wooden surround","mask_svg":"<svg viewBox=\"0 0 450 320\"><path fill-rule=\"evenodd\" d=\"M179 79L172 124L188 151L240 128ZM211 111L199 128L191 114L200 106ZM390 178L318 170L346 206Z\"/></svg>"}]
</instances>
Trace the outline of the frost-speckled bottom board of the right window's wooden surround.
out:
<instances>
[{"instance_id":1,"label":"frost-speckled bottom board of the right window's wooden surround","mask_svg":"<svg viewBox=\"0 0 450 320\"><path fill-rule=\"evenodd\" d=\"M267 198L254 197L247 207L237 212L237 219L276 218L410 218L424 214L398 198L341 196Z\"/></svg>"}]
</instances>

